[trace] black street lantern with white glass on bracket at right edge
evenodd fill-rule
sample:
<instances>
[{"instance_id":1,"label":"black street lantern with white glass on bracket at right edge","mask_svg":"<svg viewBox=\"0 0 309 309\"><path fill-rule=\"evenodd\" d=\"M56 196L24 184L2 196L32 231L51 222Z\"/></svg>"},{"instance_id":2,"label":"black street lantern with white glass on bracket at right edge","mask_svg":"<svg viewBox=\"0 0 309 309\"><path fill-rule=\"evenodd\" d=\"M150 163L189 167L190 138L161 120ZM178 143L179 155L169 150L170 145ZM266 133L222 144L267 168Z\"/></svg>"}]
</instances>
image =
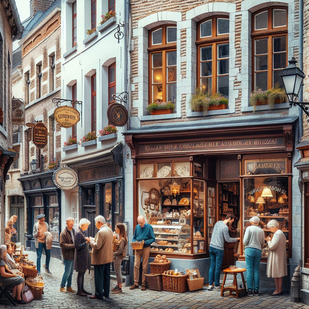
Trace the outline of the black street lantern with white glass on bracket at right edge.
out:
<instances>
[{"instance_id":1,"label":"black street lantern with white glass on bracket at right edge","mask_svg":"<svg viewBox=\"0 0 309 309\"><path fill-rule=\"evenodd\" d=\"M296 102L298 98L298 93L302 85L305 74L296 66L297 61L295 57L292 57L292 60L289 60L289 65L282 70L279 76L282 77L283 85L286 91L286 95L289 99L290 108L294 105L298 105L307 116L309 116L309 103L307 102Z\"/></svg>"}]
</instances>

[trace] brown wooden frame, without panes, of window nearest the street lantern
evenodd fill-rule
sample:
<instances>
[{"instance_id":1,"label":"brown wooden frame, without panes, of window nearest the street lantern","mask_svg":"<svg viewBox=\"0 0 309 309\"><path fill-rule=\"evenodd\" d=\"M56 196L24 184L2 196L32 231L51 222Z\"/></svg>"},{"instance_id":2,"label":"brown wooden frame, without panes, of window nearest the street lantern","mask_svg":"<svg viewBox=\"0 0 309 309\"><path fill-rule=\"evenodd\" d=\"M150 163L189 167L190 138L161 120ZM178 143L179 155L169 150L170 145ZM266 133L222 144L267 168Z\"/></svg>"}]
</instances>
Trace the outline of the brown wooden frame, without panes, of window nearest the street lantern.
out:
<instances>
[{"instance_id":1,"label":"brown wooden frame, without panes, of window nearest the street lantern","mask_svg":"<svg viewBox=\"0 0 309 309\"><path fill-rule=\"evenodd\" d=\"M273 10L286 10L286 26L283 27L273 27ZM268 12L268 23L267 29L255 30L255 17L256 15L267 11ZM271 6L258 10L252 14L252 91L256 90L255 88L255 40L258 39L268 39L268 63L267 63L267 89L274 87L273 85L273 72L280 71L281 69L273 69L273 38L286 36L286 66L288 64L288 8L286 6ZM272 55L269 57L269 55ZM263 70L266 71L266 70Z\"/></svg>"}]
</instances>

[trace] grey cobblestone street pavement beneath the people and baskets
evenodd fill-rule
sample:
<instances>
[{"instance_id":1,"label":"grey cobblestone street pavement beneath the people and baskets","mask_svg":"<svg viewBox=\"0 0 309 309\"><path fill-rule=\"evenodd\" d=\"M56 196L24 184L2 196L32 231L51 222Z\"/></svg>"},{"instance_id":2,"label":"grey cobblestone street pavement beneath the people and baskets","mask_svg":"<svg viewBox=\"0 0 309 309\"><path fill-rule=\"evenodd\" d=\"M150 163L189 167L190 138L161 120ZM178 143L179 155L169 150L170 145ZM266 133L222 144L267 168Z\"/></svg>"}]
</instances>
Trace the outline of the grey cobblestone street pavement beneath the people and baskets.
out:
<instances>
[{"instance_id":1,"label":"grey cobblestone street pavement beneath the people and baskets","mask_svg":"<svg viewBox=\"0 0 309 309\"><path fill-rule=\"evenodd\" d=\"M29 260L36 260L35 252L27 252ZM42 256L42 265L45 262L45 256ZM123 292L112 295L110 298L101 300L90 300L88 297L79 297L73 293L60 293L60 282L64 271L64 266L60 260L51 258L49 269L52 275L42 273L45 287L42 300L33 300L26 305L19 305L22 308L50 308L50 309L77 309L77 308L106 308L106 309L309 309L302 303L291 303L288 294L280 297L271 297L269 293L261 293L258 297L221 297L220 292L199 290L183 294L171 292L141 291L140 289L129 290L129 287L123 287ZM111 288L116 281L111 281ZM72 287L76 289L76 272L73 273ZM94 292L93 271L86 273L85 290ZM0 308L12 308L11 304L1 298Z\"/></svg>"}]
</instances>

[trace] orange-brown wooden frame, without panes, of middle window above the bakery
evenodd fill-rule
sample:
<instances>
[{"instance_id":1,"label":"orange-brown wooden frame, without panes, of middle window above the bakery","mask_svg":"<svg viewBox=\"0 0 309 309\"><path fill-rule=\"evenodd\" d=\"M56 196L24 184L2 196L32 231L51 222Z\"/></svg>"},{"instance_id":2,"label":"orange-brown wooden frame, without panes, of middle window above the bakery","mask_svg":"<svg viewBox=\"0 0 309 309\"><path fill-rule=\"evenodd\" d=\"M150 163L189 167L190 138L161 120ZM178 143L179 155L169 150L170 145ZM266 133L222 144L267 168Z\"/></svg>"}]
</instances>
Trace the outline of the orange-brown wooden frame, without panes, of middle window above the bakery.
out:
<instances>
[{"instance_id":1,"label":"orange-brown wooden frame, without panes, of middle window above the bakery","mask_svg":"<svg viewBox=\"0 0 309 309\"><path fill-rule=\"evenodd\" d=\"M201 85L201 48L211 46L212 47L212 70L211 70L211 91L217 92L218 83L218 45L229 44L229 33L218 34L217 26L218 19L228 19L229 15L216 15L214 17L208 17L202 19L197 23L197 87ZM211 20L211 36L201 38L201 24ZM230 56L229 56L230 57ZM220 58L223 59L223 58ZM222 74L220 74L222 75ZM226 75L226 74L224 74Z\"/></svg>"}]
</instances>

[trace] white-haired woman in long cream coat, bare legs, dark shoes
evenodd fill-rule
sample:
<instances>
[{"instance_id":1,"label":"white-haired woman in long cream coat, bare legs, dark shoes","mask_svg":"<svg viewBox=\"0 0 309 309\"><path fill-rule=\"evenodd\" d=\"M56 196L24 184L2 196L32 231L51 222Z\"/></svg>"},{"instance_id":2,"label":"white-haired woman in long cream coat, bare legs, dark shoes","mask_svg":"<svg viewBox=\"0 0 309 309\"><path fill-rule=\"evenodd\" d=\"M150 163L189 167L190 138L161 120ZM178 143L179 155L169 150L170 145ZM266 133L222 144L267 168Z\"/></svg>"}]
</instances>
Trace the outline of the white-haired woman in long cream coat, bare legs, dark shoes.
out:
<instances>
[{"instance_id":1,"label":"white-haired woman in long cream coat, bare legs, dark shoes","mask_svg":"<svg viewBox=\"0 0 309 309\"><path fill-rule=\"evenodd\" d=\"M276 220L270 220L267 227L274 234L273 239L270 239L269 236L265 238L269 248L266 274L267 277L273 277L276 284L276 290L270 295L280 296L283 295L282 277L287 276L286 236L280 230Z\"/></svg>"}]
</instances>

